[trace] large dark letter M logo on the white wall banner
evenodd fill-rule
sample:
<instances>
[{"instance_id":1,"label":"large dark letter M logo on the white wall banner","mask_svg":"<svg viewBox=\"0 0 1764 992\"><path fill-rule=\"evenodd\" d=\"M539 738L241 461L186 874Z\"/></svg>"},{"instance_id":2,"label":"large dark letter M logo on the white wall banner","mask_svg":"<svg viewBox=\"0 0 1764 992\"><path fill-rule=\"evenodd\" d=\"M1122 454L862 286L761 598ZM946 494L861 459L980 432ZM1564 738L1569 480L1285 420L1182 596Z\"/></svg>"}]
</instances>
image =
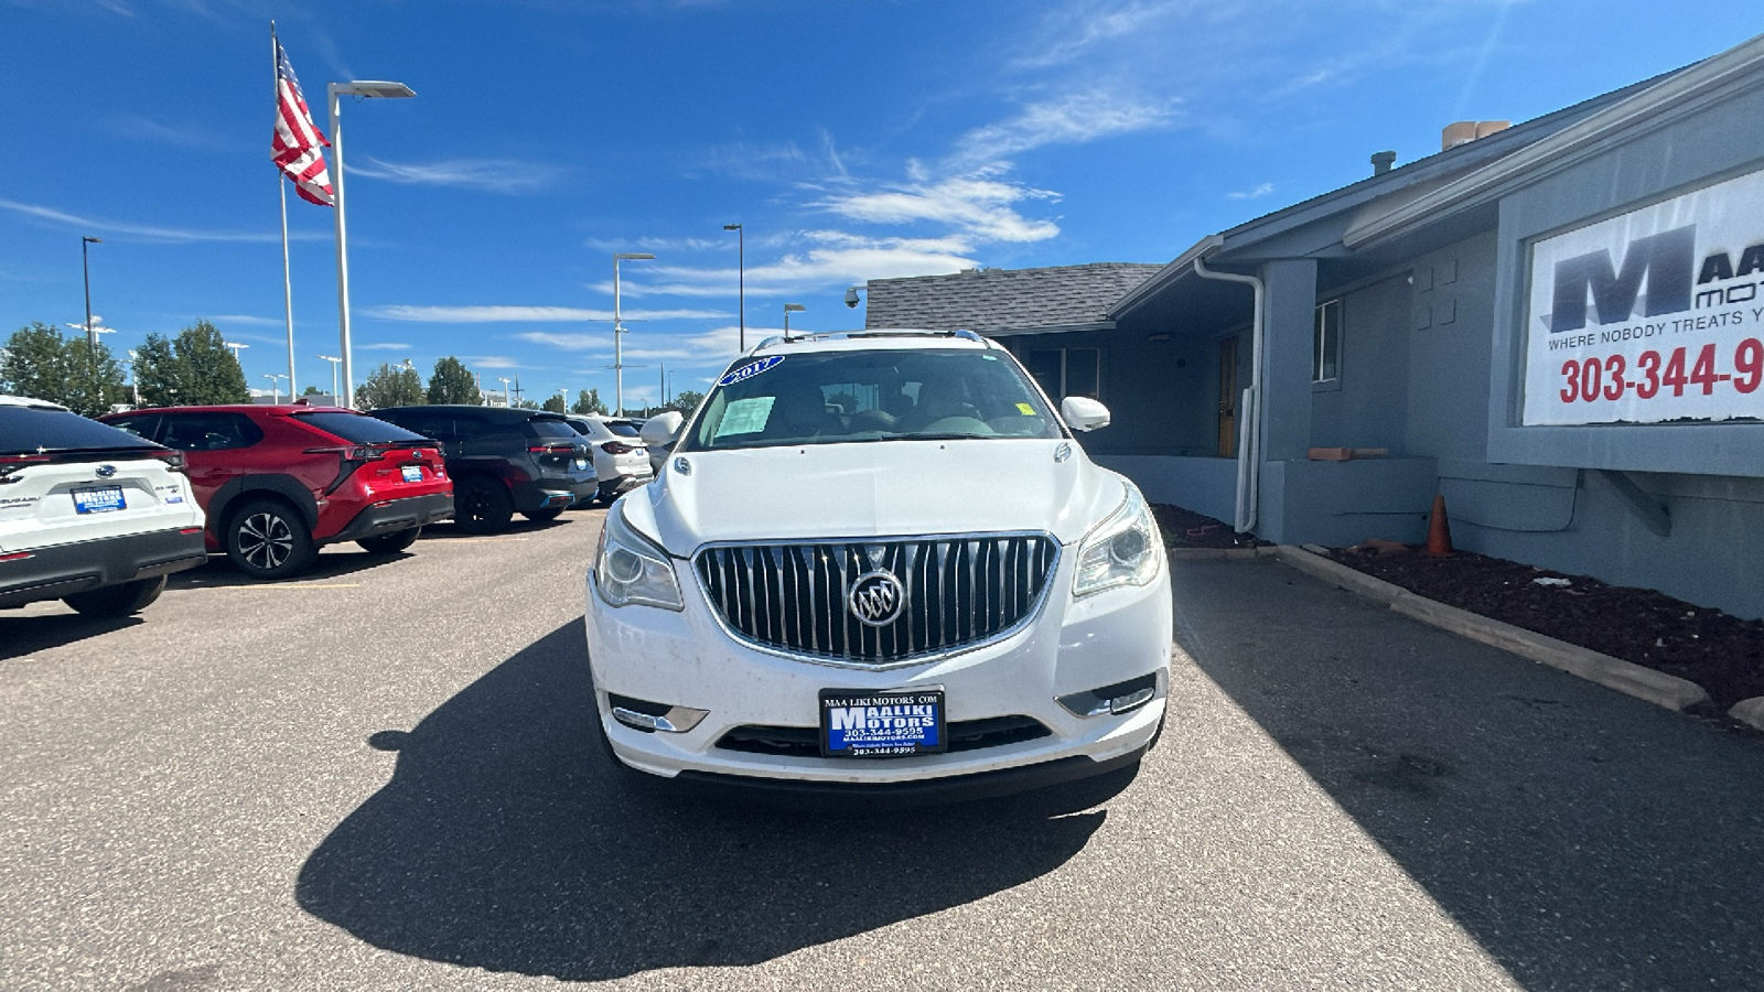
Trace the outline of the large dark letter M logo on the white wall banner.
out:
<instances>
[{"instance_id":1,"label":"large dark letter M logo on the white wall banner","mask_svg":"<svg viewBox=\"0 0 1764 992\"><path fill-rule=\"evenodd\" d=\"M1697 254L1697 226L1686 224L1630 242L1623 252L1623 270L1611 263L1611 249L1566 258L1556 263L1556 300L1549 330L1586 327L1586 298L1591 293L1598 323L1621 323L1635 312L1635 297L1648 277L1642 314L1658 316L1690 309L1692 268Z\"/></svg>"}]
</instances>

